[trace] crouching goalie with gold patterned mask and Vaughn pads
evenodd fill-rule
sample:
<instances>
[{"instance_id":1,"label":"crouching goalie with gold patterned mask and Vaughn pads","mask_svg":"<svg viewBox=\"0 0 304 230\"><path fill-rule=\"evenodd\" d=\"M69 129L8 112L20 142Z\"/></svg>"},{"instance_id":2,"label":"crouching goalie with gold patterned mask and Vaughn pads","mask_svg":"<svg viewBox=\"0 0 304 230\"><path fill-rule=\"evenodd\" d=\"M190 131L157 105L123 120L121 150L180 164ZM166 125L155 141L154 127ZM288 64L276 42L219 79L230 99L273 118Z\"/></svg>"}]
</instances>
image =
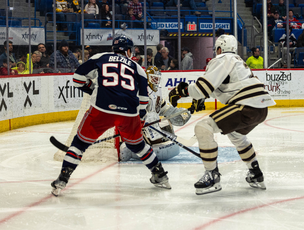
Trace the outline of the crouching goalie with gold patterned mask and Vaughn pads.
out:
<instances>
[{"instance_id":1,"label":"crouching goalie with gold patterned mask and Vaughn pads","mask_svg":"<svg viewBox=\"0 0 304 230\"><path fill-rule=\"evenodd\" d=\"M149 102L147 106L147 119L146 123L154 122L159 119L159 116L170 116L177 113L184 108L174 108L171 104L167 104L161 97L161 72L155 66L147 68L146 71L148 78L148 94ZM168 119L168 125L160 127L159 124L154 124L153 127L164 133L174 134L173 126L182 126L191 118L190 112L183 113L174 118ZM154 153L156 153L158 160L168 160L179 154L179 146L172 141L167 140L159 133L147 127L143 129L143 138L147 144L152 146ZM140 160L139 157L132 153L125 143L120 146L120 160L128 161L130 159Z\"/></svg>"}]
</instances>

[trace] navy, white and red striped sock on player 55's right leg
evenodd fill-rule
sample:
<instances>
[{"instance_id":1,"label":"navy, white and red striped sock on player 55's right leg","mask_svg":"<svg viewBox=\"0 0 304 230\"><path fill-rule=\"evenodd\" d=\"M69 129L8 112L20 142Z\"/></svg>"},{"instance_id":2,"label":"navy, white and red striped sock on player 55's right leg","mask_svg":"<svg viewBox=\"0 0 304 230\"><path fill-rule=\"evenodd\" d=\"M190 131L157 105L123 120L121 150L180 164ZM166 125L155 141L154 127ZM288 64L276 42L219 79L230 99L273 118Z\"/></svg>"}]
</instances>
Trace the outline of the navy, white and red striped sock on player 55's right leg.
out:
<instances>
[{"instance_id":1,"label":"navy, white and red striped sock on player 55's right leg","mask_svg":"<svg viewBox=\"0 0 304 230\"><path fill-rule=\"evenodd\" d=\"M133 153L139 156L140 160L142 160L143 164L146 165L148 169L151 170L158 163L157 156L153 149L144 141L137 145L130 145L126 143L126 146Z\"/></svg>"}]
</instances>

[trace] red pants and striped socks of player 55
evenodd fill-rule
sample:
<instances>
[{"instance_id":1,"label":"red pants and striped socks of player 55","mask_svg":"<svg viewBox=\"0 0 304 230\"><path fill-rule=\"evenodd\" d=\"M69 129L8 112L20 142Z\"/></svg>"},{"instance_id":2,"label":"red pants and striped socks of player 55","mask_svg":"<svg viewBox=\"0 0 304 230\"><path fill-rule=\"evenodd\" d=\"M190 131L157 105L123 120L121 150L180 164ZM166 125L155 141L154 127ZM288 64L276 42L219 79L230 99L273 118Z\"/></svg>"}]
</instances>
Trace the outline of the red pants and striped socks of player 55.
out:
<instances>
[{"instance_id":1,"label":"red pants and striped socks of player 55","mask_svg":"<svg viewBox=\"0 0 304 230\"><path fill-rule=\"evenodd\" d=\"M127 117L109 114L90 107L78 127L70 148L64 156L62 168L75 169L85 150L106 130L117 126L122 140L133 153L149 168L153 168L158 159L153 149L143 141L139 115Z\"/></svg>"}]
</instances>

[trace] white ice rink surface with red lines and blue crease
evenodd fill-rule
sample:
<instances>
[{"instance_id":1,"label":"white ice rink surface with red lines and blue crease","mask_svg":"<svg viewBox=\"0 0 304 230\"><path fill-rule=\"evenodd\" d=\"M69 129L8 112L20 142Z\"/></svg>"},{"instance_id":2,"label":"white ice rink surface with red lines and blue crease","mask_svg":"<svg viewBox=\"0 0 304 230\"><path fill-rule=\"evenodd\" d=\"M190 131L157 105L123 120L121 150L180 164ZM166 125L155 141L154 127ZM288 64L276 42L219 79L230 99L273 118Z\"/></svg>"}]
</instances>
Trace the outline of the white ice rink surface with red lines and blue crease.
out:
<instances>
[{"instance_id":1,"label":"white ice rink surface with red lines and blue crease","mask_svg":"<svg viewBox=\"0 0 304 230\"><path fill-rule=\"evenodd\" d=\"M192 116L178 136L212 111ZM248 134L267 190L251 188L246 166L226 136L215 134L223 189L196 195L201 160L181 149L164 161L171 190L154 187L139 162L81 163L59 197L50 195L61 162L53 161L55 136L64 142L73 122L0 133L0 229L304 229L304 109L269 109ZM193 147L198 152L198 143Z\"/></svg>"}]
</instances>

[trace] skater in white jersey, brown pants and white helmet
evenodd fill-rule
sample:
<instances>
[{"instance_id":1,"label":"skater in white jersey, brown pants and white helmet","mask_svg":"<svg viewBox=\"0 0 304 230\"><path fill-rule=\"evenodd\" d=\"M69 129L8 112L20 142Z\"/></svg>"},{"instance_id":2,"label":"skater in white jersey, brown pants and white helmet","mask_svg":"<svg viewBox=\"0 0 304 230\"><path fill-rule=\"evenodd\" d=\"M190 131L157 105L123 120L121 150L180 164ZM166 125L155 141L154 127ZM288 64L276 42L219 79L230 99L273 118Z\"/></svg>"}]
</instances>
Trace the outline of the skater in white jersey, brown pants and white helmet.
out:
<instances>
[{"instance_id":1,"label":"skater in white jersey, brown pants and white helmet","mask_svg":"<svg viewBox=\"0 0 304 230\"><path fill-rule=\"evenodd\" d=\"M217 56L207 65L206 72L195 84L181 82L170 93L173 106L181 97L198 100L197 110L205 98L216 98L225 107L213 112L209 118L195 125L205 174L195 183L196 194L206 194L222 189L217 167L218 145L214 133L227 134L236 147L249 172L246 181L251 187L266 189L264 176L256 154L246 135L266 119L268 106L275 101L264 89L264 84L254 77L247 64L236 54L237 40L232 35L221 35L215 43Z\"/></svg>"}]
</instances>

